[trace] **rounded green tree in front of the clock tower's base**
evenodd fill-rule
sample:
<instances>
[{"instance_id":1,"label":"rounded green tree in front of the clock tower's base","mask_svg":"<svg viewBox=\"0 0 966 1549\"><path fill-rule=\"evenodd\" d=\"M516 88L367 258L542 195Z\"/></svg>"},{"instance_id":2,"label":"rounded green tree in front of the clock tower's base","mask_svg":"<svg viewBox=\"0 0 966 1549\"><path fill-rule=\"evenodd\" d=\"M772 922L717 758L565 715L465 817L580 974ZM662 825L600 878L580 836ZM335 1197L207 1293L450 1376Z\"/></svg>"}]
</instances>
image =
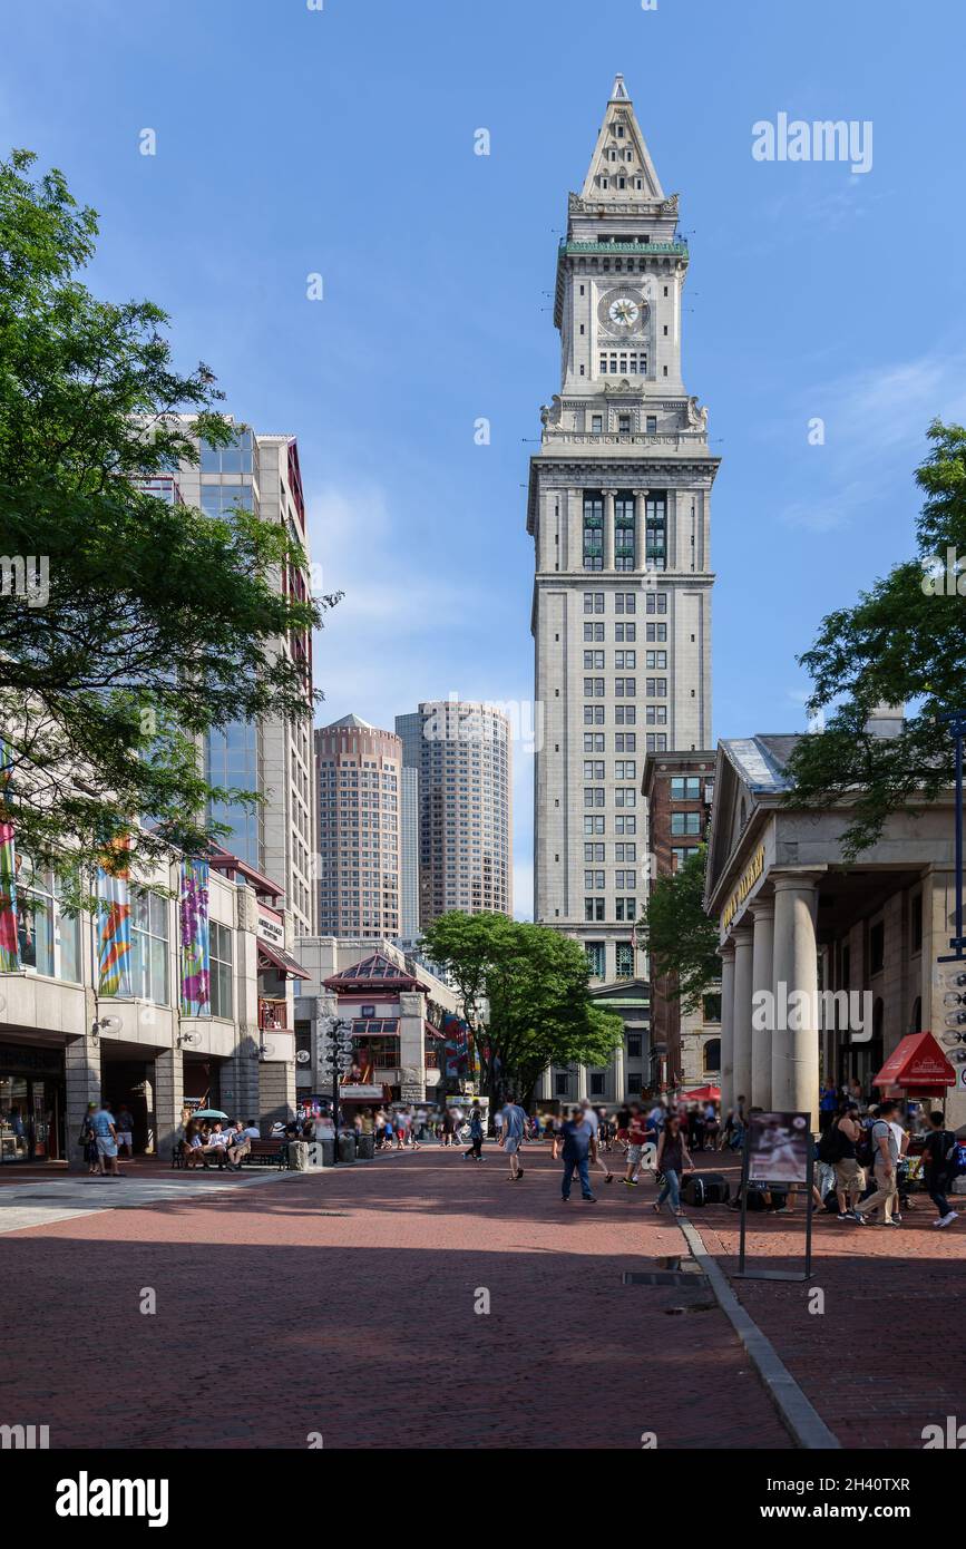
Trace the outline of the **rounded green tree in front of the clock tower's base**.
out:
<instances>
[{"instance_id":1,"label":"rounded green tree in front of the clock tower's base","mask_svg":"<svg viewBox=\"0 0 966 1549\"><path fill-rule=\"evenodd\" d=\"M463 998L494 1101L526 1101L550 1064L607 1064L624 1036L619 1016L588 994L579 942L503 914L443 914L423 937Z\"/></svg>"}]
</instances>

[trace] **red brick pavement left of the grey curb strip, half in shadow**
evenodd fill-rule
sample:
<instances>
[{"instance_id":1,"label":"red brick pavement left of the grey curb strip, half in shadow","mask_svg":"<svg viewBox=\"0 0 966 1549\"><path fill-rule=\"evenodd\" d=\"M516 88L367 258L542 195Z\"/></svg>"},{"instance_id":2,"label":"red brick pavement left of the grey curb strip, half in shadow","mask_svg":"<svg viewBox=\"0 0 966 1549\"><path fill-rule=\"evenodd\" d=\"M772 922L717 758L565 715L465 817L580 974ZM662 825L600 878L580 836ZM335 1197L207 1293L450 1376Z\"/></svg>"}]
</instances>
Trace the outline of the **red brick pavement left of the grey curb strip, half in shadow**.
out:
<instances>
[{"instance_id":1,"label":"red brick pavement left of the grey curb strip, half in shadow","mask_svg":"<svg viewBox=\"0 0 966 1549\"><path fill-rule=\"evenodd\" d=\"M433 1146L6 1233L0 1422L53 1447L790 1447L717 1307L621 1283L684 1248L652 1190L564 1205L546 1149L525 1166Z\"/></svg>"}]
</instances>

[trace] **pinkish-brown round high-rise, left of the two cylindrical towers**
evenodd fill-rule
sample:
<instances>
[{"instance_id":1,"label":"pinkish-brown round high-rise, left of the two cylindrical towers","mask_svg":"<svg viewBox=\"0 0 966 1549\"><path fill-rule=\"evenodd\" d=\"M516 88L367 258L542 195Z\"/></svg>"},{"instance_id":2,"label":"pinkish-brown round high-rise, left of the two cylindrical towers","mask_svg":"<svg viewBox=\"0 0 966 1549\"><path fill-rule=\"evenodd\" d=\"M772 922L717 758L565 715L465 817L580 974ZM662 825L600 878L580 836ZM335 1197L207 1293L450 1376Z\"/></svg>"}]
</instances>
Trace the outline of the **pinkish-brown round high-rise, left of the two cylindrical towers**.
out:
<instances>
[{"instance_id":1,"label":"pinkish-brown round high-rise, left of the two cylindrical towers","mask_svg":"<svg viewBox=\"0 0 966 1549\"><path fill-rule=\"evenodd\" d=\"M344 716L316 730L319 934L401 934L402 744Z\"/></svg>"}]
</instances>

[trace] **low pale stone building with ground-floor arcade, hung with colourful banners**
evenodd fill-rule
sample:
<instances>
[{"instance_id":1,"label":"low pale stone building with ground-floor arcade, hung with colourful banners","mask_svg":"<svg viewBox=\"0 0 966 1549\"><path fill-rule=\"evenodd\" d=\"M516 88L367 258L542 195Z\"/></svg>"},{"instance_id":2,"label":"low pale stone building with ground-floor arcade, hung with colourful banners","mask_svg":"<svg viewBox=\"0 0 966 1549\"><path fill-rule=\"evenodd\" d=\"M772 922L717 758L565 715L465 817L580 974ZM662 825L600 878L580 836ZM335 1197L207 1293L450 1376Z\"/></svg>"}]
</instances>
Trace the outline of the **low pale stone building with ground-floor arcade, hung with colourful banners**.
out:
<instances>
[{"instance_id":1,"label":"low pale stone building with ground-floor arcade, hung with colourful banners","mask_svg":"<svg viewBox=\"0 0 966 1549\"><path fill-rule=\"evenodd\" d=\"M22 869L23 881L26 877ZM180 1008L178 863L132 889L130 993L104 994L90 915L60 909L54 878L19 884L20 968L0 976L0 1163L84 1165L87 1104L133 1115L135 1152L167 1159L192 1108L268 1132L296 1094L291 956L282 889L215 850L209 872L211 1015Z\"/></svg>"}]
</instances>

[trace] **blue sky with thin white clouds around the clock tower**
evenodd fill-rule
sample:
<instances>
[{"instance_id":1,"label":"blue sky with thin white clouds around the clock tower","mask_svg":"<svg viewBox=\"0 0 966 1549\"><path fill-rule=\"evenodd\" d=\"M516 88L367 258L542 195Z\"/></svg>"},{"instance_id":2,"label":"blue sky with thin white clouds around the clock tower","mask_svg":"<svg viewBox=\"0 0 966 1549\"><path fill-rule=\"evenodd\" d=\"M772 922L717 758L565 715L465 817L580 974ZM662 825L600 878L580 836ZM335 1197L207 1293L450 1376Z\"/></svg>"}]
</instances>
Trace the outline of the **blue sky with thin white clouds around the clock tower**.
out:
<instances>
[{"instance_id":1,"label":"blue sky with thin white clouds around the clock tower","mask_svg":"<svg viewBox=\"0 0 966 1549\"><path fill-rule=\"evenodd\" d=\"M46 0L5 19L0 141L101 212L101 294L164 305L180 364L203 358L226 407L297 435L313 558L347 593L317 643L319 719L390 726L420 699L533 694L525 483L559 386L548 293L622 71L681 194L684 378L723 457L715 737L786 731L820 617L910 548L926 424L966 417L964 15ZM755 161L752 124L780 112L872 121L872 170ZM517 747L520 914L531 778Z\"/></svg>"}]
</instances>

